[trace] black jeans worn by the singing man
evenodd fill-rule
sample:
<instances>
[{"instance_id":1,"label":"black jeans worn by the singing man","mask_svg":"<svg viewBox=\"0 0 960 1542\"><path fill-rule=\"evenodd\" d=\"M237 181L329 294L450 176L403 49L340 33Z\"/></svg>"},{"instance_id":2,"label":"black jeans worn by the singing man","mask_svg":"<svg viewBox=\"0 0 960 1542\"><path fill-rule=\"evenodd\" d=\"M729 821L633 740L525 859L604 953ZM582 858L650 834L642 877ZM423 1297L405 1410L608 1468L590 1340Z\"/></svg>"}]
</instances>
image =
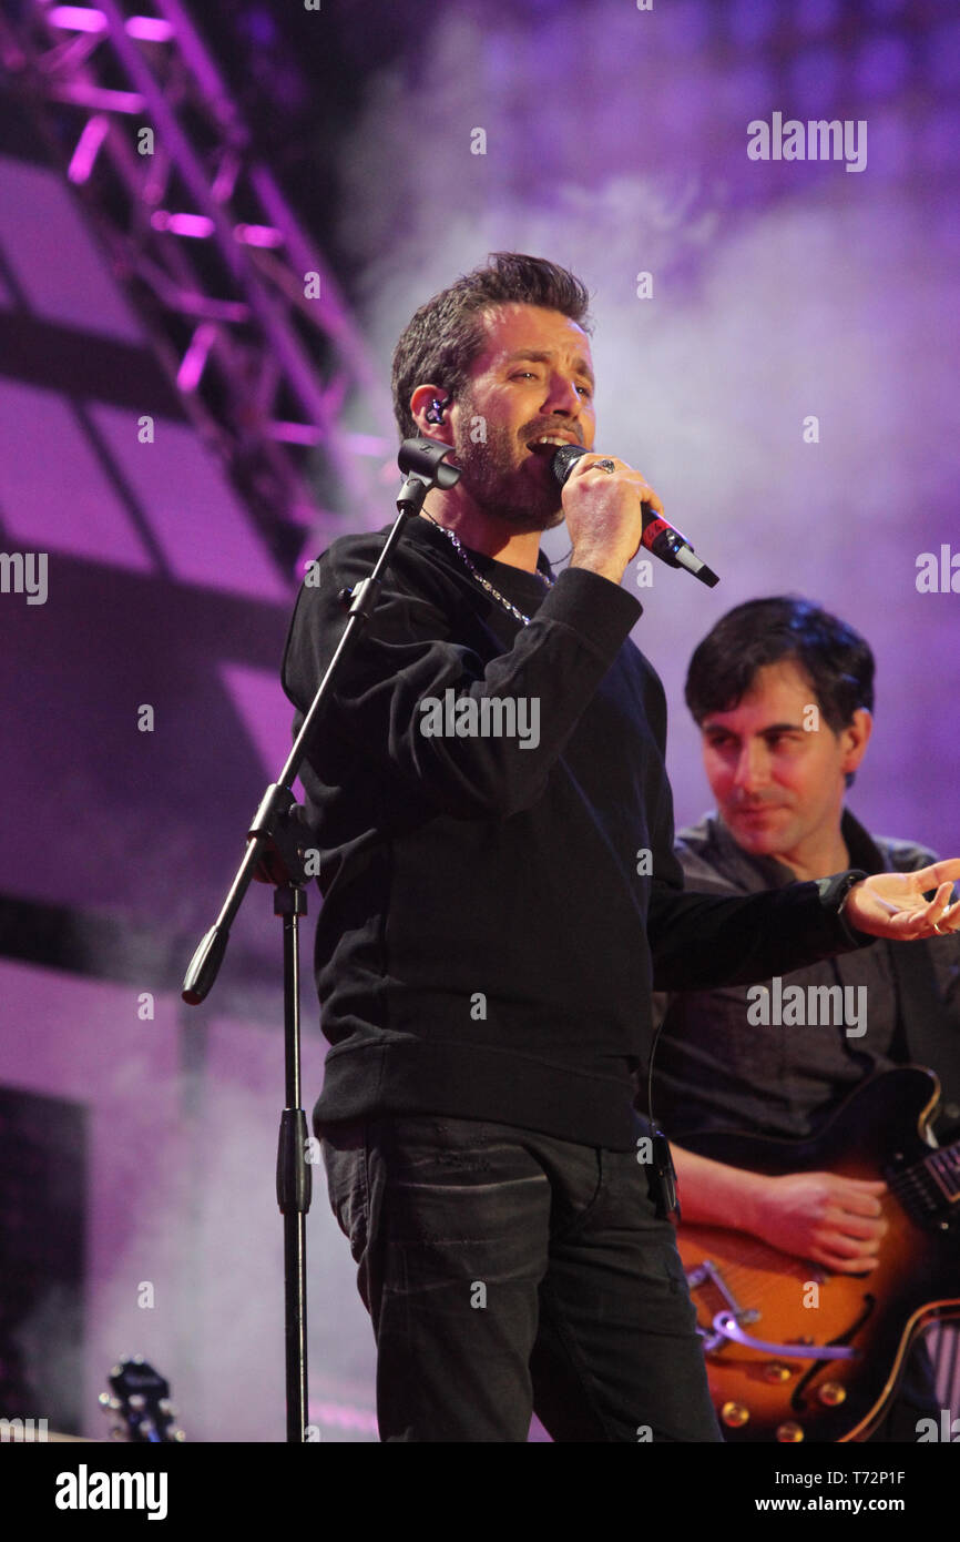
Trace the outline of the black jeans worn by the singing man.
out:
<instances>
[{"instance_id":1,"label":"black jeans worn by the singing man","mask_svg":"<svg viewBox=\"0 0 960 1542\"><path fill-rule=\"evenodd\" d=\"M718 1442L636 1152L433 1115L328 1129L378 1343L381 1440Z\"/></svg>"}]
</instances>

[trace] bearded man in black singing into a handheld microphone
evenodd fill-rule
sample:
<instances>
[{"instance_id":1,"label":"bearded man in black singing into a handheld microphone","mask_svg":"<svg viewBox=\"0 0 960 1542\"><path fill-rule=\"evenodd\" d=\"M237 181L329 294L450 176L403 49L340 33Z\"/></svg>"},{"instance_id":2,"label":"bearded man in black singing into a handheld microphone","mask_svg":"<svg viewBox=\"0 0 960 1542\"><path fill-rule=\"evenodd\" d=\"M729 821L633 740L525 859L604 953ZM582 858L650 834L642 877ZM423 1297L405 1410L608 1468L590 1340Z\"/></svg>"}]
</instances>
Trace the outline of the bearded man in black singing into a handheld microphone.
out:
<instances>
[{"instance_id":1,"label":"bearded man in black singing into a handheld microphone","mask_svg":"<svg viewBox=\"0 0 960 1542\"><path fill-rule=\"evenodd\" d=\"M302 769L331 1044L314 1129L373 1320L384 1440L522 1442L532 1409L555 1440L720 1440L632 1107L653 984L747 982L866 933L960 927L960 862L683 893L664 694L621 588L641 504L661 503L612 456L584 455L562 492L550 467L558 444L593 446L587 332L579 279L518 253L404 330L401 435L448 444L462 476L408 521ZM561 520L573 550L555 575L539 540ZM297 723L345 625L339 592L385 534L336 540L300 591Z\"/></svg>"}]
</instances>

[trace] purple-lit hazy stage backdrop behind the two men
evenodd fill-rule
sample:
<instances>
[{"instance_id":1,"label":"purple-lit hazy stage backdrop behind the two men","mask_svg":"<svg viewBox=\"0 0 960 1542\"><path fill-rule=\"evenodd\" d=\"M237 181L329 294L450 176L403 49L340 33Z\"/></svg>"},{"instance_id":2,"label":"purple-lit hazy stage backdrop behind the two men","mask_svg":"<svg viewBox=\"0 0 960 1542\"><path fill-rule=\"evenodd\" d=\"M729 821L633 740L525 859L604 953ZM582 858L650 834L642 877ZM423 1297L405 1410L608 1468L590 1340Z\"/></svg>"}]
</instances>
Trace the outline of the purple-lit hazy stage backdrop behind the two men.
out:
<instances>
[{"instance_id":1,"label":"purple-lit hazy stage backdrop behind the two men","mask_svg":"<svg viewBox=\"0 0 960 1542\"><path fill-rule=\"evenodd\" d=\"M707 594L658 566L638 591L678 823L709 805L681 697L693 645L732 604L795 591L877 654L852 806L960 853L960 592L917 588L921 554L960 554L951 8L408 9L416 49L353 82L316 234L342 254L384 373L411 310L488 250L589 284L598 443L643 467L723 578ZM359 22L334 5L297 26ZM864 163L750 159L749 125L775 114L848 122ZM45 603L0 595L0 1079L92 1115L86 1406L131 1349L171 1375L191 1437L282 1439L267 893L216 1004L186 1013L176 981L287 748L276 668L294 586L160 379L62 171L22 136L0 154L0 541L49 558ZM103 350L114 367L94 375ZM345 510L342 527L385 523L393 486L388 469L382 510ZM562 529L547 550L564 555ZM305 1005L313 1024L310 990ZM322 1050L313 1027L310 1099ZM370 1329L322 1190L310 1249L314 1417L324 1439L371 1439Z\"/></svg>"}]
</instances>

